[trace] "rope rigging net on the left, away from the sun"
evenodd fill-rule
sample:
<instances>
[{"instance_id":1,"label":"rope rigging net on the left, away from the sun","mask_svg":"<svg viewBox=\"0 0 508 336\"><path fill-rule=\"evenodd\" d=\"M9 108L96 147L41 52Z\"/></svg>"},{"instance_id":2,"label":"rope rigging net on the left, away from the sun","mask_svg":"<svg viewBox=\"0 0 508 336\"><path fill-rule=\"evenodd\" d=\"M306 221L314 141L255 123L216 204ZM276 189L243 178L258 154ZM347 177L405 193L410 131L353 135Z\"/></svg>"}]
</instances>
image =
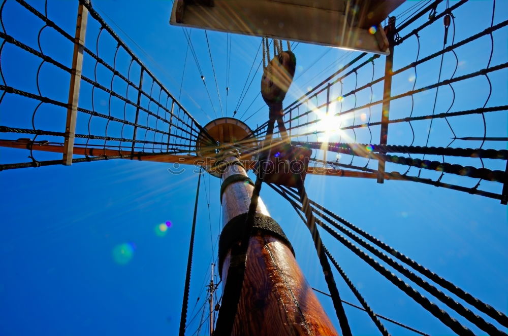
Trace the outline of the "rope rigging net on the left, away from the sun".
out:
<instances>
[{"instance_id":1,"label":"rope rigging net on the left, away from the sun","mask_svg":"<svg viewBox=\"0 0 508 336\"><path fill-rule=\"evenodd\" d=\"M80 4L89 15L74 152L83 155L73 162L193 154L203 128L92 5ZM20 163L14 161L21 160L16 155L3 156L0 170L62 163L60 153L33 150L63 146L67 136L75 17L54 21L48 16L47 2L33 6L8 0L0 8L0 141L17 140L30 150L31 159ZM16 22L39 29L20 29Z\"/></svg>"}]
</instances>

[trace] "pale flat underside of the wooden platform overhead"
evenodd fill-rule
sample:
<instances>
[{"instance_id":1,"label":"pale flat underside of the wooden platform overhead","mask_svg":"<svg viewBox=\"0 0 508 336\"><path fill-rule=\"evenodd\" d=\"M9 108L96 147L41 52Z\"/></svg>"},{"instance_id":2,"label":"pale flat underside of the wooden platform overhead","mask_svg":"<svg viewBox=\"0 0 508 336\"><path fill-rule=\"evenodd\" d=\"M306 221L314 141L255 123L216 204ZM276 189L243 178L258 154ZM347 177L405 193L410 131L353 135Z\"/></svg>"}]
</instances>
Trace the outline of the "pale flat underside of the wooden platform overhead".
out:
<instances>
[{"instance_id":1,"label":"pale flat underside of the wooden platform overhead","mask_svg":"<svg viewBox=\"0 0 508 336\"><path fill-rule=\"evenodd\" d=\"M392 4L398 6L400 1L392 0ZM388 48L380 48L378 39L369 33L368 27L351 26L344 15L344 6L340 6L340 10L333 10L338 9L335 6L330 7L332 10L321 7L326 6L301 6L293 1L215 0L213 7L207 7L177 1L170 23L376 54L388 53Z\"/></svg>"}]
</instances>

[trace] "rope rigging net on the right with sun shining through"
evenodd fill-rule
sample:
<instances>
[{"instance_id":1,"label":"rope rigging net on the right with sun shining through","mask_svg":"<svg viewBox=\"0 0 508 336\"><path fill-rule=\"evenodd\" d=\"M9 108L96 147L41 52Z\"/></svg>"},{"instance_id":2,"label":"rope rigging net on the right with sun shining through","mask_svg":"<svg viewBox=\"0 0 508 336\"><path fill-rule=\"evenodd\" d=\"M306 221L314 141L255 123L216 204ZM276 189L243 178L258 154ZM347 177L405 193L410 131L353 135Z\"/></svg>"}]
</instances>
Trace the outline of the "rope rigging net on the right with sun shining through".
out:
<instances>
[{"instance_id":1,"label":"rope rigging net on the right with sun shining through","mask_svg":"<svg viewBox=\"0 0 508 336\"><path fill-rule=\"evenodd\" d=\"M384 161L386 179L506 204L508 102L505 87L494 84L506 85L508 62L493 64L492 55L502 59L508 20L495 17L489 3L488 15L478 18L484 25L469 24L461 21L465 0L436 12L439 3L433 1L396 26L391 74L385 74L385 57L357 53L285 106L284 123L293 144L314 148L311 166L335 169L339 176L345 169L374 177L377 162ZM392 85L384 99L386 76ZM390 103L386 111L384 102ZM388 146L380 141L384 113ZM255 135L263 136L266 126L261 124ZM325 148L335 152L328 159Z\"/></svg>"}]
</instances>

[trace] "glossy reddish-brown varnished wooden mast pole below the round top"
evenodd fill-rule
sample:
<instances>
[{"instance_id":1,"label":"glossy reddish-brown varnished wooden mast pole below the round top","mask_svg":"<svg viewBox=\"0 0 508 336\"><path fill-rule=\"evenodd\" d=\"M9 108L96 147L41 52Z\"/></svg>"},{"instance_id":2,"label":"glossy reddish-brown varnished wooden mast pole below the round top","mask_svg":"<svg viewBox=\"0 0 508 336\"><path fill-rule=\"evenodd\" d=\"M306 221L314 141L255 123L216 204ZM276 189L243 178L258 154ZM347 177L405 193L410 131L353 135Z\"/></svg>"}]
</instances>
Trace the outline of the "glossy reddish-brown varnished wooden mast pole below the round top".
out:
<instances>
[{"instance_id":1,"label":"glossy reddish-brown varnished wooden mast pole below the round top","mask_svg":"<svg viewBox=\"0 0 508 336\"><path fill-rule=\"evenodd\" d=\"M226 161L238 160L232 152ZM223 181L231 175L247 175L239 165L229 165ZM253 186L244 181L229 184L223 194L224 225L246 213ZM269 216L259 200L258 213ZM221 278L228 276L231 250ZM278 238L258 232L249 241L243 287L232 335L337 335L312 288L305 280L290 248Z\"/></svg>"}]
</instances>

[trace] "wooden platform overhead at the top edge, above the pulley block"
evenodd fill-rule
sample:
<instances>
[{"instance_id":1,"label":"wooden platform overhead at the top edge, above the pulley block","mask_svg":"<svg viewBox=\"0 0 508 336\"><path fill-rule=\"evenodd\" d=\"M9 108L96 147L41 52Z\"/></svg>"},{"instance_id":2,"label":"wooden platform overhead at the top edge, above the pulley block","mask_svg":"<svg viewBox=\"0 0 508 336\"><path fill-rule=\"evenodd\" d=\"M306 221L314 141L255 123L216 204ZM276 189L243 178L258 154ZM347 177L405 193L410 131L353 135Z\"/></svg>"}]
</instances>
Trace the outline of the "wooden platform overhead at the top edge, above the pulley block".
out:
<instances>
[{"instance_id":1,"label":"wooden platform overhead at the top edge, above the pulley block","mask_svg":"<svg viewBox=\"0 0 508 336\"><path fill-rule=\"evenodd\" d=\"M170 23L389 53L380 23L404 0L176 0Z\"/></svg>"}]
</instances>

